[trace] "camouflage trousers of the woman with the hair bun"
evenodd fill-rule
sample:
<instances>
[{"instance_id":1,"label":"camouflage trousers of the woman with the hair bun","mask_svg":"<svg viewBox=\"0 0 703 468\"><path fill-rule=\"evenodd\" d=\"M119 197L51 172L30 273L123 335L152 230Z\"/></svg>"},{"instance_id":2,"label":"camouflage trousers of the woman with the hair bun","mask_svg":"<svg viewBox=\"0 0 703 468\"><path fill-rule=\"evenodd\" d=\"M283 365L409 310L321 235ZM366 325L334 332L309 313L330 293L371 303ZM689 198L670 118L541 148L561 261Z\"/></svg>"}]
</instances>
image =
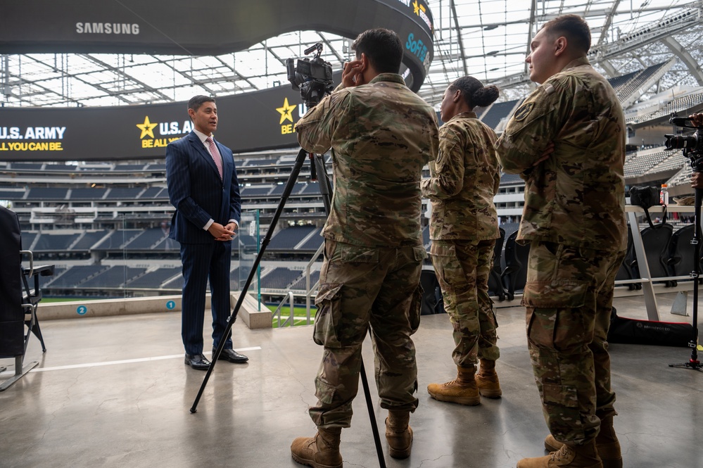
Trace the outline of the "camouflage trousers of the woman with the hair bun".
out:
<instances>
[{"instance_id":1,"label":"camouflage trousers of the woman with the hair bun","mask_svg":"<svg viewBox=\"0 0 703 468\"><path fill-rule=\"evenodd\" d=\"M470 367L479 358L498 360L493 301L488 296L488 274L493 267L495 239L487 241L432 241L430 255L442 288L444 310L454 331L452 358Z\"/></svg>"}]
</instances>

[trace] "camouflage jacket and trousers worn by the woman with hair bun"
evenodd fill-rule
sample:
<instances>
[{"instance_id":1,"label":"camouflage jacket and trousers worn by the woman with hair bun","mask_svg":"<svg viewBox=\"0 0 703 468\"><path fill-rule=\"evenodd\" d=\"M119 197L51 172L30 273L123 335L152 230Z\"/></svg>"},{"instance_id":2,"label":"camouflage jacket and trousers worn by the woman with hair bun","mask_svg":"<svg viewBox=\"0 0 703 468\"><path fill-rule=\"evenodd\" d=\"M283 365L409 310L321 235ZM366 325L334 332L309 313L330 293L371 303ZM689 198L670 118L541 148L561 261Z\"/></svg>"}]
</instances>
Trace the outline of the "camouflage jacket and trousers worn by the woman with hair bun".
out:
<instances>
[{"instance_id":1,"label":"camouflage jacket and trousers worn by the woman with hair bun","mask_svg":"<svg viewBox=\"0 0 703 468\"><path fill-rule=\"evenodd\" d=\"M500 237L493 196L500 174L495 133L473 112L452 117L439 129L439 157L420 186L432 201L430 254L454 328L452 353L459 367L478 358L498 360L500 350L488 274Z\"/></svg>"}]
</instances>

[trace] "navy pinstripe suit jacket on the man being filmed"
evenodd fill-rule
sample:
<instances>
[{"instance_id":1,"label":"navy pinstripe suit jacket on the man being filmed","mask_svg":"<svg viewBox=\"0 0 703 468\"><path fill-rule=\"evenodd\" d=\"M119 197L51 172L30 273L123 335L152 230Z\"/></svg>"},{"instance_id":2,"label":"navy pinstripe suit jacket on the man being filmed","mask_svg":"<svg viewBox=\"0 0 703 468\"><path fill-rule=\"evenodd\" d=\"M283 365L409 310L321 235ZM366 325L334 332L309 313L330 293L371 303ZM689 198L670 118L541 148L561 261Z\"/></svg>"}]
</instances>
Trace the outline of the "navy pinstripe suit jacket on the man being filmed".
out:
<instances>
[{"instance_id":1,"label":"navy pinstripe suit jacket on the man being filmed","mask_svg":"<svg viewBox=\"0 0 703 468\"><path fill-rule=\"evenodd\" d=\"M215 241L203 226L212 218L223 226L239 222L241 198L232 150L215 141L222 155L222 180L213 157L195 132L166 147L168 197L176 208L169 237L181 244Z\"/></svg>"}]
</instances>

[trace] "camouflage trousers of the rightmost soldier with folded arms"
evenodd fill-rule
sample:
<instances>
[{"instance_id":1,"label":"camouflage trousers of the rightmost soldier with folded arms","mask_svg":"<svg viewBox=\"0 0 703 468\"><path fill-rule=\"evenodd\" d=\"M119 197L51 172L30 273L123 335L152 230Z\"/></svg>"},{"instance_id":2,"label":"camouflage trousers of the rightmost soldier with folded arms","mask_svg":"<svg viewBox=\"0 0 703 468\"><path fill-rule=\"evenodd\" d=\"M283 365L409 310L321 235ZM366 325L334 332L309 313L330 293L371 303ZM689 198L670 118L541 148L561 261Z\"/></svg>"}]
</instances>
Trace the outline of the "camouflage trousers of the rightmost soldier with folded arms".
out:
<instances>
[{"instance_id":1,"label":"camouflage trousers of the rightmost soldier with folded arms","mask_svg":"<svg viewBox=\"0 0 703 468\"><path fill-rule=\"evenodd\" d=\"M533 241L523 305L547 426L558 441L591 441L615 415L607 334L624 252Z\"/></svg>"}]
</instances>

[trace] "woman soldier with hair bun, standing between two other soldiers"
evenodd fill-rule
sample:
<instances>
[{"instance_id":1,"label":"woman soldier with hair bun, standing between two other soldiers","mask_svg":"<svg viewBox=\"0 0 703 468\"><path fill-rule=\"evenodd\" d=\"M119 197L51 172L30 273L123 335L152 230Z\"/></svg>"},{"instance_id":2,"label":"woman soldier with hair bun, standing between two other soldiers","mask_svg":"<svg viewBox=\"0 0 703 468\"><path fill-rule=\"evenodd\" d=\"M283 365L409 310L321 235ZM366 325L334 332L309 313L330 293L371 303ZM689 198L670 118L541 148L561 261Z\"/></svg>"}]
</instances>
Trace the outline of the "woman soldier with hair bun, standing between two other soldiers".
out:
<instances>
[{"instance_id":1,"label":"woman soldier with hair bun, standing between two other soldiers","mask_svg":"<svg viewBox=\"0 0 703 468\"><path fill-rule=\"evenodd\" d=\"M495 133L476 118L474 107L498 99L498 88L474 77L461 77L446 89L441 104L439 157L430 163L422 194L432 202L430 255L453 326L452 358L457 378L429 384L432 398L478 405L481 395L501 396L495 361L497 324L488 296L495 239L500 237L493 196L500 173ZM481 360L481 372L476 365Z\"/></svg>"}]
</instances>

